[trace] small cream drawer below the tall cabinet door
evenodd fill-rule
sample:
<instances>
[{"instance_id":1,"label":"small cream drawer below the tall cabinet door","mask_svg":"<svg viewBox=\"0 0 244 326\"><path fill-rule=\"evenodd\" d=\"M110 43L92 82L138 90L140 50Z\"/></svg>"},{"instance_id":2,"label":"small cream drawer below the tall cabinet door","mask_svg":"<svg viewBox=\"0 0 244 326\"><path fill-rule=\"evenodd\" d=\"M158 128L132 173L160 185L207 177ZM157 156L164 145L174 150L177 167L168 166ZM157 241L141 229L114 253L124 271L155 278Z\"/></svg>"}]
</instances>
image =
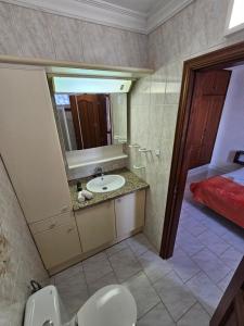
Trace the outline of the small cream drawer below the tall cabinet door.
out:
<instances>
[{"instance_id":1,"label":"small cream drawer below the tall cabinet door","mask_svg":"<svg viewBox=\"0 0 244 326\"><path fill-rule=\"evenodd\" d=\"M66 223L72 223L72 222L75 222L74 214L73 214L73 212L67 212L67 213L52 216L50 218L47 218L47 220L43 220L40 222L29 224L29 228L30 228L31 233L34 235L36 235L38 233L53 229L60 225L63 225Z\"/></svg>"}]
</instances>

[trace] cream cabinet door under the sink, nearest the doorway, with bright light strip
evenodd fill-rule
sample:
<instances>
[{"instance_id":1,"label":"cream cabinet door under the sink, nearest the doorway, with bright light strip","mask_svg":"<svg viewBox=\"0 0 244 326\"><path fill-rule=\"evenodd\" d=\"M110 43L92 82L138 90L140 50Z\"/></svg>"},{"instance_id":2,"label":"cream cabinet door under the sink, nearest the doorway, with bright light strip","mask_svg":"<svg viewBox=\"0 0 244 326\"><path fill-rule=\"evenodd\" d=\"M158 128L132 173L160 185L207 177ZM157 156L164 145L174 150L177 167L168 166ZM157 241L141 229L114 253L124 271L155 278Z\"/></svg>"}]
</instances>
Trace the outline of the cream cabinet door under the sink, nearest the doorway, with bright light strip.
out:
<instances>
[{"instance_id":1,"label":"cream cabinet door under the sink, nearest the doorway, with bright light strip","mask_svg":"<svg viewBox=\"0 0 244 326\"><path fill-rule=\"evenodd\" d=\"M127 236L144 225L145 190L115 200L117 237Z\"/></svg>"}]
</instances>

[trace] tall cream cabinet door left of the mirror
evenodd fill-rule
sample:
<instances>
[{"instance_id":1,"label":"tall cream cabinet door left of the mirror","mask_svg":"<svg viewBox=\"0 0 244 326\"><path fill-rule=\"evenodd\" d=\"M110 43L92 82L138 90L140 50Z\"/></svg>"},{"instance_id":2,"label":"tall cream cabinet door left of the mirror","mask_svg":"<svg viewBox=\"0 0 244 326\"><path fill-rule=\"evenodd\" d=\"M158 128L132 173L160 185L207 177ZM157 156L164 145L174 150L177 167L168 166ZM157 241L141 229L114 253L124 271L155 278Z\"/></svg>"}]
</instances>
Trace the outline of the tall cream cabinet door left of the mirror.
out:
<instances>
[{"instance_id":1,"label":"tall cream cabinet door left of the mirror","mask_svg":"<svg viewBox=\"0 0 244 326\"><path fill-rule=\"evenodd\" d=\"M28 223L70 209L44 71L0 68L0 152Z\"/></svg>"}]
</instances>

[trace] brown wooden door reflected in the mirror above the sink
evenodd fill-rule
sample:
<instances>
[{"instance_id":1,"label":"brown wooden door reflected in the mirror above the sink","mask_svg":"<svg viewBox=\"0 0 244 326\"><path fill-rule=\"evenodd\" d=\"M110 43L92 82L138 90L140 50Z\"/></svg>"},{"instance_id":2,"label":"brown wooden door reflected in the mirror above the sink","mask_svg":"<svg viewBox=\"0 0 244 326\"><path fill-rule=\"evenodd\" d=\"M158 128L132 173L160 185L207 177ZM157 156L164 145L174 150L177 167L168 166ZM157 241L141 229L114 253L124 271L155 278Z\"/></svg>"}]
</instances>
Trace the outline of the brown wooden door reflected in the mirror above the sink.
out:
<instances>
[{"instance_id":1,"label":"brown wooden door reflected in the mirror above the sink","mask_svg":"<svg viewBox=\"0 0 244 326\"><path fill-rule=\"evenodd\" d=\"M77 149L111 145L108 97L82 95L69 99Z\"/></svg>"}]
</instances>

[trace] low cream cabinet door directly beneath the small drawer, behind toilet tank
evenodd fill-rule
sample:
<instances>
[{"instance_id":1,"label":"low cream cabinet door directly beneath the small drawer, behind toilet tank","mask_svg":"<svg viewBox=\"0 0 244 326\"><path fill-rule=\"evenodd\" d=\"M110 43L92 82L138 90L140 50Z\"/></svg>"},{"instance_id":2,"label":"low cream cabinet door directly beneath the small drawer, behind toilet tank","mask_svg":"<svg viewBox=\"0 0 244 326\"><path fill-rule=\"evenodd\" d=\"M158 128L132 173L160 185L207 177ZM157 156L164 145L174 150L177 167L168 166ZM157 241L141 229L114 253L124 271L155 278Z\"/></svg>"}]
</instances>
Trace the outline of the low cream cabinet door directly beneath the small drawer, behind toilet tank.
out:
<instances>
[{"instance_id":1,"label":"low cream cabinet door directly beneath the small drawer, behind toilet tank","mask_svg":"<svg viewBox=\"0 0 244 326\"><path fill-rule=\"evenodd\" d=\"M74 222L34 236L47 269L81 254L79 236Z\"/></svg>"}]
</instances>

